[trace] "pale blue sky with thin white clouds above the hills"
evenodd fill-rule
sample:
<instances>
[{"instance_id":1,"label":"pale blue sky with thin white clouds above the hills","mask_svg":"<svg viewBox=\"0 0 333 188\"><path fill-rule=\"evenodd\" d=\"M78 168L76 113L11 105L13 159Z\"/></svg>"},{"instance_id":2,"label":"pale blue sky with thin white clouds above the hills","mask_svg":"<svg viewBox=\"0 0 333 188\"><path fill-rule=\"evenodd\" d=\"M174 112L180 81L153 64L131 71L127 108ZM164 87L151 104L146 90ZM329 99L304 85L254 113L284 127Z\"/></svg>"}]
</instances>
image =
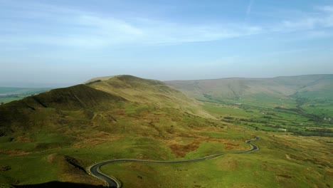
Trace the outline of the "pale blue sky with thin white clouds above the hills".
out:
<instances>
[{"instance_id":1,"label":"pale blue sky with thin white clouds above the hills","mask_svg":"<svg viewBox=\"0 0 333 188\"><path fill-rule=\"evenodd\" d=\"M0 0L0 86L333 73L333 0Z\"/></svg>"}]
</instances>

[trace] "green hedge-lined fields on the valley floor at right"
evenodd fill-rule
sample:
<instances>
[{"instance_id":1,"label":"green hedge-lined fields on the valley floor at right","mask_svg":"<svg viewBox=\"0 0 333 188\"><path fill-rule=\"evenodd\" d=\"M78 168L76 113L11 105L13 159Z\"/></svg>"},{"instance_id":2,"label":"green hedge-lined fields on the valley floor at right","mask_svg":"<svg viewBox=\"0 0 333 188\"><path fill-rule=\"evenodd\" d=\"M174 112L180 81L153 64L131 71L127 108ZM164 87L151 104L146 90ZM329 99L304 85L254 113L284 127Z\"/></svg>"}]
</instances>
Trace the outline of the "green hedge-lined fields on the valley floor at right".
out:
<instances>
[{"instance_id":1,"label":"green hedge-lined fields on the valley floor at right","mask_svg":"<svg viewBox=\"0 0 333 188\"><path fill-rule=\"evenodd\" d=\"M253 98L263 98L266 105L254 103L256 100ZM231 105L231 100L224 102L209 98L201 101L206 101L204 109L221 122L261 131L333 137L333 120L329 120L333 117L333 100L317 103L317 100L311 98L293 96L283 100L283 105L273 102L277 100L273 96L269 98L268 95L263 97L260 94L243 98L243 103L233 101L235 105Z\"/></svg>"}]
</instances>

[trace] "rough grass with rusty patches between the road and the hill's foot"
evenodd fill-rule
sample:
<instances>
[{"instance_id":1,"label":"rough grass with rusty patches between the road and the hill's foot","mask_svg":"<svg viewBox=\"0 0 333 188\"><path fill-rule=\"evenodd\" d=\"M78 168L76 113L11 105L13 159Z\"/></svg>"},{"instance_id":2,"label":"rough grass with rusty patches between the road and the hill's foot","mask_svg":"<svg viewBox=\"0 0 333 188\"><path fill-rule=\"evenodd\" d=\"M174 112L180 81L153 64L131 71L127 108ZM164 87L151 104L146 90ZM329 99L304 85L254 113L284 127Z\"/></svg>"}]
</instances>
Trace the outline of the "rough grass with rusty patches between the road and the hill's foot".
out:
<instances>
[{"instance_id":1,"label":"rough grass with rusty patches between the road and the hill's foot","mask_svg":"<svg viewBox=\"0 0 333 188\"><path fill-rule=\"evenodd\" d=\"M228 134L223 128L213 125L210 128L195 128L197 132L220 130L221 134ZM192 134L193 137L190 137L189 133L188 137L146 137L129 136L129 133L121 136L113 135L110 132L91 132L80 135L80 137L87 137L83 142L73 142L69 137L46 134L46 132L14 139L13 137L1 137L0 164L10 167L9 170L0 172L1 183L40 184L52 181L87 183L88 181L90 184L97 185L102 182L93 179L77 167L73 167L73 164L65 160L65 157L75 158L82 168L88 167L94 162L114 158L178 160L184 154L186 155L184 158L192 158L242 149L248 147L243 143L245 137L251 137L241 135L236 140L216 140L215 137L208 137L205 134L203 134L205 136L194 132ZM236 136L234 135L234 137ZM61 142L73 144L61 145ZM238 145L240 145L239 148ZM21 172L24 173L18 176L17 174Z\"/></svg>"}]
</instances>

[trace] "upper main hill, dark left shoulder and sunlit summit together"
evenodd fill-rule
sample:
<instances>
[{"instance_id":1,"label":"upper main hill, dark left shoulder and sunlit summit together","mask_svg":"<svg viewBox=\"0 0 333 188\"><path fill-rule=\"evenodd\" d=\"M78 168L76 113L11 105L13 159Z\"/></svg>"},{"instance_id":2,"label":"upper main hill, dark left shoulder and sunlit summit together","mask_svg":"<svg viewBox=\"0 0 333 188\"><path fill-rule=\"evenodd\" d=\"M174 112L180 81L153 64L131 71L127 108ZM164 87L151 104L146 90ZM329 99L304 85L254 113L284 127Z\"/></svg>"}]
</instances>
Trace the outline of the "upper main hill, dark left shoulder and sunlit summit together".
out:
<instances>
[{"instance_id":1,"label":"upper main hill, dark left shoulder and sunlit summit together","mask_svg":"<svg viewBox=\"0 0 333 188\"><path fill-rule=\"evenodd\" d=\"M129 125L137 120L144 120L143 124L146 124L155 119L149 112L164 113L159 115L161 119L171 118L171 113L211 117L199 103L161 81L120 75L104 81L50 90L1 105L0 134L10 135L11 132L37 127L62 130L60 127L65 125L77 125L78 120L100 129L105 129L107 123L115 127L123 126L116 119L127 119ZM163 132L157 127L151 128L154 132Z\"/></svg>"}]
</instances>

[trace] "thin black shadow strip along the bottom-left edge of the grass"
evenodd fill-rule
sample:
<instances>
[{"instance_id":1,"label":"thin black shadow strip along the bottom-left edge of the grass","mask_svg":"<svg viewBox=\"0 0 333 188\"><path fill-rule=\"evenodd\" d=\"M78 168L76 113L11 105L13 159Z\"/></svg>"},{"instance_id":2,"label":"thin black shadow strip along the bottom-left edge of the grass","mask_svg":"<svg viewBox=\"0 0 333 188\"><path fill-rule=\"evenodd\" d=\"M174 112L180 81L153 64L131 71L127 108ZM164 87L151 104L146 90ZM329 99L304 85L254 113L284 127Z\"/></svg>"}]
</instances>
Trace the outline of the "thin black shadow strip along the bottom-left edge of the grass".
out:
<instances>
[{"instance_id":1,"label":"thin black shadow strip along the bottom-left edge of the grass","mask_svg":"<svg viewBox=\"0 0 333 188\"><path fill-rule=\"evenodd\" d=\"M102 188L104 186L102 185L91 185L91 184L76 184L76 183L70 183L70 182L47 182L43 184L26 184L26 185L14 185L14 187L18 188Z\"/></svg>"}]
</instances>

